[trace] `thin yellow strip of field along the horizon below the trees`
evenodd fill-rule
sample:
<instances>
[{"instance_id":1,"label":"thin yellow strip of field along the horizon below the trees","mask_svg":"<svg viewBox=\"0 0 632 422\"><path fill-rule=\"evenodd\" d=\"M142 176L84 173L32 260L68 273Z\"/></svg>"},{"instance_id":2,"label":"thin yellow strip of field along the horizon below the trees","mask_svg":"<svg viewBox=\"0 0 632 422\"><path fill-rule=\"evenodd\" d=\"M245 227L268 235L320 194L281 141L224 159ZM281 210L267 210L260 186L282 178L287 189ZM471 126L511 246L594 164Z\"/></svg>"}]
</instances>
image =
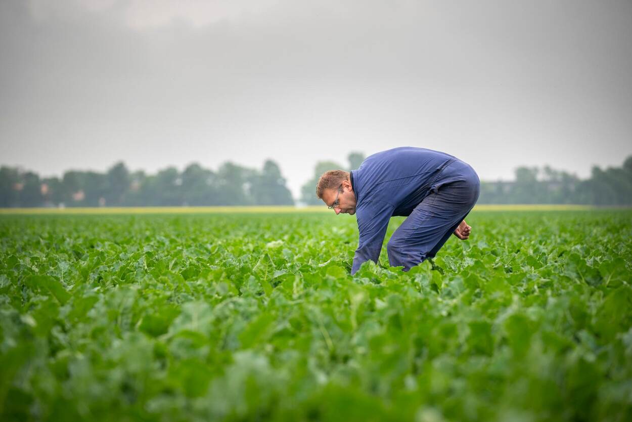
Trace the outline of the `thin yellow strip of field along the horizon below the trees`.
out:
<instances>
[{"instance_id":1,"label":"thin yellow strip of field along the horizon below the trees","mask_svg":"<svg viewBox=\"0 0 632 422\"><path fill-rule=\"evenodd\" d=\"M477 205L474 211L583 211L586 205ZM226 207L102 207L102 208L0 208L0 214L221 214L221 213L331 213L325 206Z\"/></svg>"}]
</instances>

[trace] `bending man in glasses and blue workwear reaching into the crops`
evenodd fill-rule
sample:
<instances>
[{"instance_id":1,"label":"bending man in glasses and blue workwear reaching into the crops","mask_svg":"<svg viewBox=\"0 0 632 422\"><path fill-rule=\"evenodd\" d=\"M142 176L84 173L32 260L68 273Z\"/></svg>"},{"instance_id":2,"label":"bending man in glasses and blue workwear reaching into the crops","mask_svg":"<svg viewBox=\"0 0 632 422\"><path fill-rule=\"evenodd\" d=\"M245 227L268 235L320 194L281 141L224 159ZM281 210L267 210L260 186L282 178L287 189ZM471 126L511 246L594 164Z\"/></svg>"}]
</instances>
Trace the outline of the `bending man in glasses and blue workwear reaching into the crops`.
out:
<instances>
[{"instance_id":1,"label":"bending man in glasses and blue workwear reaching into the crops","mask_svg":"<svg viewBox=\"0 0 632 422\"><path fill-rule=\"evenodd\" d=\"M444 152L401 147L378 152L358 170L330 170L316 194L336 214L356 214L360 241L351 274L377 263L391 216L408 216L387 244L391 266L404 271L433 258L452 233L470 237L465 222L478 199L480 181L468 164Z\"/></svg>"}]
</instances>

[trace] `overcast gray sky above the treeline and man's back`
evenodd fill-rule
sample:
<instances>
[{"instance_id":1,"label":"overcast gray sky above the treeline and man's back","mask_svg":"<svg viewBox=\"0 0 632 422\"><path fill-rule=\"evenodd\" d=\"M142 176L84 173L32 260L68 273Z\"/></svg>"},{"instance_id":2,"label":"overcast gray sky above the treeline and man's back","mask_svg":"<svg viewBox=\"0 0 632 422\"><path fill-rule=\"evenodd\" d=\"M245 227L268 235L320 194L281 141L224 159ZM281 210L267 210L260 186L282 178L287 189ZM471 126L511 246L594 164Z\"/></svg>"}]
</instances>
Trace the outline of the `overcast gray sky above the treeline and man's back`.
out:
<instances>
[{"instance_id":1,"label":"overcast gray sky above the treeline and man's back","mask_svg":"<svg viewBox=\"0 0 632 422\"><path fill-rule=\"evenodd\" d=\"M0 164L439 149L484 180L632 154L632 1L0 0Z\"/></svg>"}]
</instances>

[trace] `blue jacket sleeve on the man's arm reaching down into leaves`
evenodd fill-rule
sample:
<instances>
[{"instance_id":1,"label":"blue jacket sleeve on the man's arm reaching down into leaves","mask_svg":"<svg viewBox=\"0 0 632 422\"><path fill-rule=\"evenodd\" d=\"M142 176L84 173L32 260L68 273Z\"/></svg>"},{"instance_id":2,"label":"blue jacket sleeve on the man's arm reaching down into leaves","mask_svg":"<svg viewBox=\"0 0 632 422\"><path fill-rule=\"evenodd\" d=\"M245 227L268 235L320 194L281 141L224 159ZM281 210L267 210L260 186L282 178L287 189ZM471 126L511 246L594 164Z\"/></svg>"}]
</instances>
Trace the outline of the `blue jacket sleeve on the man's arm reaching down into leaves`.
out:
<instances>
[{"instance_id":1,"label":"blue jacket sleeve on the man's arm reaching down into leaves","mask_svg":"<svg viewBox=\"0 0 632 422\"><path fill-rule=\"evenodd\" d=\"M360 240L353 257L351 274L355 274L360 269L360 265L369 259L377 263L393 209L391 204L381 201L365 201L360 208L356 209Z\"/></svg>"}]
</instances>

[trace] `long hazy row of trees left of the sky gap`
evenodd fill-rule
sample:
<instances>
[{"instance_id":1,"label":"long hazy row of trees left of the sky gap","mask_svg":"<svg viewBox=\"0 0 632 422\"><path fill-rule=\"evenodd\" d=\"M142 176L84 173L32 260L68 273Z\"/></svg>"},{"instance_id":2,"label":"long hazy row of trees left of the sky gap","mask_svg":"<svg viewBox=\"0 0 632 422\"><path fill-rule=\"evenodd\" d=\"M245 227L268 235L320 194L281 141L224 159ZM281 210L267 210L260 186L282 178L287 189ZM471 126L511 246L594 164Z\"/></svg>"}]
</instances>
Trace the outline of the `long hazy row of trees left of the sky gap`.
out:
<instances>
[{"instance_id":1,"label":"long hazy row of trees left of the sky gap","mask_svg":"<svg viewBox=\"0 0 632 422\"><path fill-rule=\"evenodd\" d=\"M0 168L0 207L292 205L294 199L274 161L262 170L222 164L217 171L190 164L154 175L130 172L124 163L106 173L66 171L40 178L32 171Z\"/></svg>"}]
</instances>

